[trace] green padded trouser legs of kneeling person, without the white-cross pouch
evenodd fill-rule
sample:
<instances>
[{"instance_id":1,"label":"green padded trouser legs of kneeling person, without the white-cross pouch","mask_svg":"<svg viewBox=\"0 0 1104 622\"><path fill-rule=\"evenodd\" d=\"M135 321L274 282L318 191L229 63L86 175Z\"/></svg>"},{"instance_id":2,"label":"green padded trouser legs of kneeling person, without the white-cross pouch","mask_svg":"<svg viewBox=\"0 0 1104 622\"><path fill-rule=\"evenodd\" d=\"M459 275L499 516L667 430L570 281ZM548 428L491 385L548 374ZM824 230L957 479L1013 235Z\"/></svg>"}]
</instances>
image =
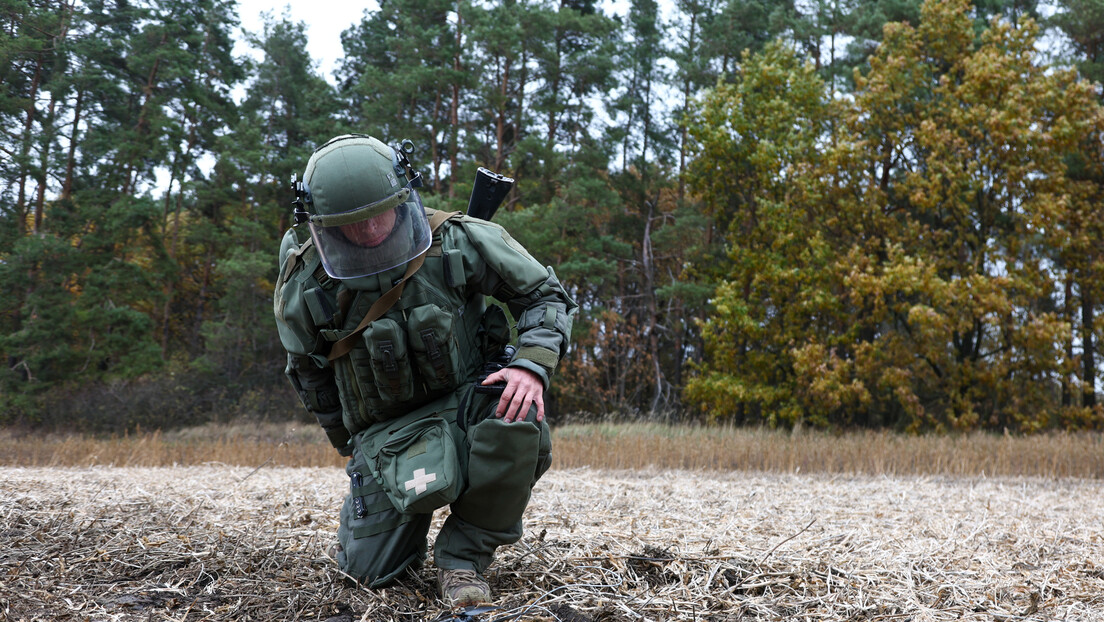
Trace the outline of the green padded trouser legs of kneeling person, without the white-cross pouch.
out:
<instances>
[{"instance_id":1,"label":"green padded trouser legs of kneeling person, without the white-cross pouch","mask_svg":"<svg viewBox=\"0 0 1104 622\"><path fill-rule=\"evenodd\" d=\"M497 397L469 397L459 421L455 407L435 411L452 424L464 486L437 535L434 559L438 568L482 572L496 548L521 538L521 516L533 485L552 462L552 445L548 424L537 423L535 407L524 421L505 423L495 417ZM455 398L452 400L455 404ZM424 560L433 516L397 512L382 483L371 474L372 465L361 447L379 442L372 443L364 435L388 434L385 429L380 424L357 435L358 451L347 467L351 489L338 530L343 548L339 566L372 588L389 583L408 566Z\"/></svg>"}]
</instances>

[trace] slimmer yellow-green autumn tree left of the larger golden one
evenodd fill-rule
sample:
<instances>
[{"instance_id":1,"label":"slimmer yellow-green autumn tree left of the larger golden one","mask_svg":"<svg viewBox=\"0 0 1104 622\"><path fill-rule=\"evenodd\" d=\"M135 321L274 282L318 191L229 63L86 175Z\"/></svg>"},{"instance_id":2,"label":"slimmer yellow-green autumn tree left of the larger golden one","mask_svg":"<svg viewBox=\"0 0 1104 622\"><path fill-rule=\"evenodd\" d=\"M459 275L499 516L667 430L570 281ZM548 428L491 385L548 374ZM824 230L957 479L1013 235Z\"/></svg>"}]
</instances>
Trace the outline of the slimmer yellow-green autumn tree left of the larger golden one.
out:
<instances>
[{"instance_id":1,"label":"slimmer yellow-green autumn tree left of the larger golden one","mask_svg":"<svg viewBox=\"0 0 1104 622\"><path fill-rule=\"evenodd\" d=\"M792 207L820 155L830 108L824 82L784 44L744 56L731 84L691 114L689 182L730 249L703 327L709 362L689 381L691 402L715 419L783 423L799 417L789 344L808 334L820 298L816 203ZM698 272L709 274L710 266Z\"/></svg>"}]
</instances>

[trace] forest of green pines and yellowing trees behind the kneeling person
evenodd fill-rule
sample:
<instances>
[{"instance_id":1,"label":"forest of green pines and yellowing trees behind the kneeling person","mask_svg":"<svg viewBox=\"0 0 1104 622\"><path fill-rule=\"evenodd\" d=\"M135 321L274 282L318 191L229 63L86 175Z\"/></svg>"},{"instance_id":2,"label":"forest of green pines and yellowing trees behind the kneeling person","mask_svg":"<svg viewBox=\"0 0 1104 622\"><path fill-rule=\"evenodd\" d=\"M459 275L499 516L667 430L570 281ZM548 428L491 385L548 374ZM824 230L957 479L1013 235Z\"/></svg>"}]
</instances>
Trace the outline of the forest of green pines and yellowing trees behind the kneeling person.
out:
<instances>
[{"instance_id":1,"label":"forest of green pines and yellowing trees behind the kneeling person","mask_svg":"<svg viewBox=\"0 0 1104 622\"><path fill-rule=\"evenodd\" d=\"M379 4L329 76L279 10L0 0L0 424L309 417L289 180L363 133L517 180L553 423L1104 429L1104 0Z\"/></svg>"}]
</instances>

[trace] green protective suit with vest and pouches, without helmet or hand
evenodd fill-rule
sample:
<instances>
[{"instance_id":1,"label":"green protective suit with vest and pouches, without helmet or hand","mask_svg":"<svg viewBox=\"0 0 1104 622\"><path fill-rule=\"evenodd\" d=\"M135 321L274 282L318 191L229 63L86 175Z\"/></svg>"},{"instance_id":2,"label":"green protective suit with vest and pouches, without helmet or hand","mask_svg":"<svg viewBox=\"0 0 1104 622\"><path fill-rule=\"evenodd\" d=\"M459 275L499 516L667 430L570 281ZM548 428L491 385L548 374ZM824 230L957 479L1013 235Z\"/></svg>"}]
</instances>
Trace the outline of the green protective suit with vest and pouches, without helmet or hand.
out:
<instances>
[{"instance_id":1,"label":"green protective suit with vest and pouches, without helmet or hand","mask_svg":"<svg viewBox=\"0 0 1104 622\"><path fill-rule=\"evenodd\" d=\"M370 587L389 583L424 560L433 509L450 504L435 563L482 572L497 547L521 537L530 491L551 462L535 407L524 421L503 423L493 415L497 396L473 390L510 339L506 315L486 296L517 318L508 367L537 373L545 389L566 351L575 303L506 230L458 214L435 230L399 301L360 334L408 266L333 280L294 231L280 261L274 310L286 373L350 456L338 563ZM350 335L348 354L329 357Z\"/></svg>"}]
</instances>

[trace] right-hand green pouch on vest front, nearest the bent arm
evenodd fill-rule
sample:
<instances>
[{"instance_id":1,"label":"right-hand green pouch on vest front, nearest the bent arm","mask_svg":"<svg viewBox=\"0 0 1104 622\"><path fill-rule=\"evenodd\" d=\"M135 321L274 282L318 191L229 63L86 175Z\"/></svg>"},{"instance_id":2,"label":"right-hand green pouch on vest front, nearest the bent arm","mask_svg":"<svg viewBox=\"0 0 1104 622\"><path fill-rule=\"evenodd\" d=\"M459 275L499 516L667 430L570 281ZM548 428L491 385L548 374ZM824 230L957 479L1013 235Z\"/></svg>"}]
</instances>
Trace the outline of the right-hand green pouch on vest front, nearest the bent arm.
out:
<instances>
[{"instance_id":1,"label":"right-hand green pouch on vest front, nearest the bent arm","mask_svg":"<svg viewBox=\"0 0 1104 622\"><path fill-rule=\"evenodd\" d=\"M453 324L453 314L437 305L411 309L406 321L414 361L426 386L434 391L452 390L460 382L460 357Z\"/></svg>"}]
</instances>

